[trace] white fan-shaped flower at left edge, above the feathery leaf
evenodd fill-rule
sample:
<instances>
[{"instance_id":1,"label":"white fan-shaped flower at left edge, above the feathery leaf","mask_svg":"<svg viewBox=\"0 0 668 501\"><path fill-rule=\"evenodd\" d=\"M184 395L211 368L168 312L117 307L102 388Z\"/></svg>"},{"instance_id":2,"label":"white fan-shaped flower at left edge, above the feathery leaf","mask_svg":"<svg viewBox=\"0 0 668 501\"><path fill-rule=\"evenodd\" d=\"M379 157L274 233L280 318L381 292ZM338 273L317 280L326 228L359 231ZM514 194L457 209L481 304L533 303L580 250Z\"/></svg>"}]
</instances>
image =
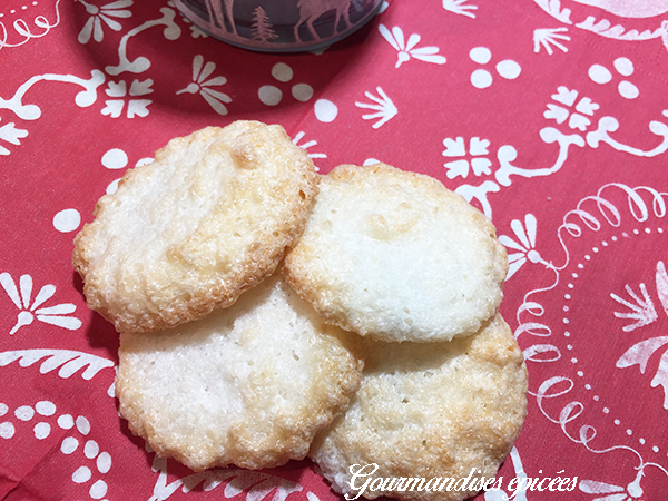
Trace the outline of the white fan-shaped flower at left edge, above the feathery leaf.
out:
<instances>
[{"instance_id":1,"label":"white fan-shaped flower at left edge, above the feathery leaf","mask_svg":"<svg viewBox=\"0 0 668 501\"><path fill-rule=\"evenodd\" d=\"M0 285L12 301L12 303L19 308L17 315L17 323L9 332L10 335L14 334L19 328L24 325L30 325L37 318L39 322L46 324L57 325L59 327L67 328L69 331L76 331L81 326L81 321L73 316L67 316L69 313L73 313L77 307L71 303L60 303L53 306L40 308L40 306L50 299L56 294L56 286L51 284L45 285L40 288L39 293L30 304L32 295L32 277L30 275L21 275L19 278L19 288L9 273L0 274ZM20 294L19 294L20 291Z\"/></svg>"}]
</instances>

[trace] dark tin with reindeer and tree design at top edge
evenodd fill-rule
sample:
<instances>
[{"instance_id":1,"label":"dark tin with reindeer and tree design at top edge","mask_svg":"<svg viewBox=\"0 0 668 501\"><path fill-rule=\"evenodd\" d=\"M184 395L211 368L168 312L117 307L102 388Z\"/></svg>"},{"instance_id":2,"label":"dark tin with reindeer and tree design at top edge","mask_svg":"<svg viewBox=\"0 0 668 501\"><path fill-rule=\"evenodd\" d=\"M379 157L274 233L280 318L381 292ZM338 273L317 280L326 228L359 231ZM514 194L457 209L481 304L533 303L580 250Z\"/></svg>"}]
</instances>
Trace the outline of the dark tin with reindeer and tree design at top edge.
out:
<instances>
[{"instance_id":1,"label":"dark tin with reindeer and tree design at top edge","mask_svg":"<svg viewBox=\"0 0 668 501\"><path fill-rule=\"evenodd\" d=\"M203 31L265 52L325 48L366 23L383 0L175 0Z\"/></svg>"}]
</instances>

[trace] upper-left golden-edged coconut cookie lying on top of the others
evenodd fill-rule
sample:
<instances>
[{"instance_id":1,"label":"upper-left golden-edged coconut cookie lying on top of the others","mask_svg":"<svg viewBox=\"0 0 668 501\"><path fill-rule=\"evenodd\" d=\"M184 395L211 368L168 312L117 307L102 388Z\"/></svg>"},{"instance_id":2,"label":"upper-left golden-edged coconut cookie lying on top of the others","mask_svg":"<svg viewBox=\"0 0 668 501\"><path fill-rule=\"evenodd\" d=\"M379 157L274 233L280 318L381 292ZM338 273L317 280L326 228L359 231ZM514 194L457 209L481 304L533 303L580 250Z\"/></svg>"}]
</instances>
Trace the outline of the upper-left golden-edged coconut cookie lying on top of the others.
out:
<instances>
[{"instance_id":1,"label":"upper-left golden-edged coconut cookie lying on top of the others","mask_svg":"<svg viewBox=\"0 0 668 501\"><path fill-rule=\"evenodd\" d=\"M119 332L229 306L298 238L317 181L281 126L236 121L170 140L100 198L77 236L88 305Z\"/></svg>"}]
</instances>

